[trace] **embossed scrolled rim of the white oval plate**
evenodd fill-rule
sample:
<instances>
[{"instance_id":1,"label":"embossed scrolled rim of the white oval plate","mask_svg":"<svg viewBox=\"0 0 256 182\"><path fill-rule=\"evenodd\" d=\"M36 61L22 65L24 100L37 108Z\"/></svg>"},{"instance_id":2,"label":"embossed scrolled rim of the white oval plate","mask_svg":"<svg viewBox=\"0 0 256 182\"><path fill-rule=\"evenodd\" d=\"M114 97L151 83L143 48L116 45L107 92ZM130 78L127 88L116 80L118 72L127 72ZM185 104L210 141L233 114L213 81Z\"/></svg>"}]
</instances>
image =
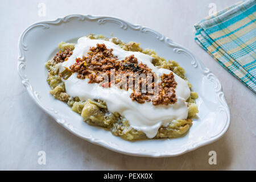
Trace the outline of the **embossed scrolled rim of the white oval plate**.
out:
<instances>
[{"instance_id":1,"label":"embossed scrolled rim of the white oval plate","mask_svg":"<svg viewBox=\"0 0 256 182\"><path fill-rule=\"evenodd\" d=\"M122 150L122 148L119 148L112 142L106 142L105 140L94 138L92 135L85 135L84 133L81 133L78 129L76 129L71 124L69 124L67 121L65 121L65 119L61 118L60 115L58 115L55 110L48 109L47 107L43 106L40 103L39 94L36 92L36 90L33 89L32 85L30 84L30 81L28 80L28 78L24 72L26 69L25 68L26 67L26 59L24 56L24 51L27 50L27 46L23 43L23 40L24 40L24 37L26 36L26 34L34 27L42 26L43 28L49 28L49 25L51 25L51 24L68 22L68 20L71 18L77 18L79 20L85 20L85 19L86 20L94 20L94 21L97 21L98 24L104 24L106 22L114 22L114 23L118 23L119 27L123 28L125 30L129 27L133 30L141 31L142 33L143 32L151 32L152 35L154 35L156 39L163 41L164 43L167 44L167 46L173 47L175 52L185 53L186 55L190 56L192 59L192 62L191 62L192 66L195 68L199 67L200 71L203 73L203 75L207 76L207 78L210 81L214 82L214 92L216 93L217 98L221 103L219 110L224 112L226 115L226 118L225 118L226 123L225 123L225 126L223 127L223 129L221 130L221 132L218 133L217 135L214 135L213 137L204 138L204 140L200 140L200 142L192 143L190 146L187 146L187 148L182 148L180 151L176 151L176 152L170 152L170 151L168 151L168 152L152 152L152 151L144 151L144 150L127 152L125 150ZM40 21L38 23L34 23L31 26L27 27L20 35L19 41L18 41L18 73L22 80L22 84L27 89L32 100L34 100L39 107L41 107L44 111L46 111L46 113L51 115L51 117L54 118L57 123L59 123L61 126L63 126L65 129L67 129L71 133L77 135L78 137L80 137L82 139L89 141L90 143L98 144L102 147L108 148L109 150L112 150L115 152L120 152L122 154L133 155L133 156L148 156L148 157L154 157L154 158L171 157L171 156L185 154L189 151L196 150L199 147L213 143L216 140L220 139L226 133L226 131L228 130L228 128L230 126L230 111L229 111L229 107L225 101L225 96L222 91L221 83L218 80L218 78L215 75L213 75L213 73L210 72L210 70L208 68L206 68L204 66L204 64L199 60L199 58L197 56L195 56L187 48L180 46L179 44L173 42L170 38L167 38L166 36L160 34L159 32L151 30L150 28L147 28L147 27L131 24L129 22L126 22L125 20L122 20L119 18L114 18L113 16L94 16L94 15L72 14L72 15L64 16L63 18L57 18L56 20Z\"/></svg>"}]
</instances>

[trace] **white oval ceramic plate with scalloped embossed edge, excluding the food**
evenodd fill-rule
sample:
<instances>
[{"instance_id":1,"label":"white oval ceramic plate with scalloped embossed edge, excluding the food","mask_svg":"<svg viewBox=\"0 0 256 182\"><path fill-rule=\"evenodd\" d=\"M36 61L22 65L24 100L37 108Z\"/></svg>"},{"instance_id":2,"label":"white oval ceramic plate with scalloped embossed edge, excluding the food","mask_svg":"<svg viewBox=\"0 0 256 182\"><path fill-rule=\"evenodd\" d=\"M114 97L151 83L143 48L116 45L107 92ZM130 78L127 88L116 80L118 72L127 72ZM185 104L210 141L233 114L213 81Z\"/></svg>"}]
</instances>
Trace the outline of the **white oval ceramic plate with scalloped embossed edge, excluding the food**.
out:
<instances>
[{"instance_id":1,"label":"white oval ceramic plate with scalloped embossed edge, excluding the food","mask_svg":"<svg viewBox=\"0 0 256 182\"><path fill-rule=\"evenodd\" d=\"M89 126L64 102L49 94L44 63L57 51L61 41L76 43L88 34L114 36L125 42L139 42L167 60L177 61L186 71L196 100L199 118L193 120L188 134L176 139L151 139L129 142L100 127ZM150 28L108 16L68 15L53 21L32 24L19 38L18 72L32 99L65 129L89 142L123 154L166 157L184 154L219 139L228 130L230 113L220 81L188 49Z\"/></svg>"}]
</instances>

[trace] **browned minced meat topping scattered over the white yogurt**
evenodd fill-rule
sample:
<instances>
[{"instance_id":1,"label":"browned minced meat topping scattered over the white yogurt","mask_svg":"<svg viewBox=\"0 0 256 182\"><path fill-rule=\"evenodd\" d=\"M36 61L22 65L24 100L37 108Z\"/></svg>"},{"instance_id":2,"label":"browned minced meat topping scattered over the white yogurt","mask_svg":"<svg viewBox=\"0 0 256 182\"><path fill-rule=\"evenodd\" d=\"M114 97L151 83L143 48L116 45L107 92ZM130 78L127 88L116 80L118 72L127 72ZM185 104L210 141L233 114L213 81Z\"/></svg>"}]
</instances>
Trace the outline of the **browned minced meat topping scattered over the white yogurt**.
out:
<instances>
[{"instance_id":1,"label":"browned minced meat topping scattered over the white yogurt","mask_svg":"<svg viewBox=\"0 0 256 182\"><path fill-rule=\"evenodd\" d=\"M77 78L89 78L88 83L98 83L104 87L115 85L126 91L130 88L133 90L130 94L131 100L140 104L152 101L153 105L168 105L177 101L175 94L177 82L172 72L163 74L161 82L155 86L154 81L157 76L146 64L138 63L134 55L119 61L112 51L113 49L106 48L105 44L90 47L86 56L76 58L76 63L69 67L69 71L76 72ZM63 62L70 55L72 52L67 48L64 52L57 53L54 60ZM142 73L144 77L141 77ZM158 94L154 94L156 88Z\"/></svg>"}]
</instances>

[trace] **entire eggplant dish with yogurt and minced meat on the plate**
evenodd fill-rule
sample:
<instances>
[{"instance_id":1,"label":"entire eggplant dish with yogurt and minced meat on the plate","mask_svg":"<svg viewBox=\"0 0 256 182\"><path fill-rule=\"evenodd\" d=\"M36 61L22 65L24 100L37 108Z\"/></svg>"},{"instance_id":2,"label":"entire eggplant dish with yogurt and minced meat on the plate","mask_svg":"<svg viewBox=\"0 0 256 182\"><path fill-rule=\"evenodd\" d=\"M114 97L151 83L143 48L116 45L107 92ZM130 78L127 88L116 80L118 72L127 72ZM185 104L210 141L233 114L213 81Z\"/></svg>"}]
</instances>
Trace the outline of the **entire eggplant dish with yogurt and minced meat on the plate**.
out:
<instances>
[{"instance_id":1,"label":"entire eggplant dish with yogurt and minced meat on the plate","mask_svg":"<svg viewBox=\"0 0 256 182\"><path fill-rule=\"evenodd\" d=\"M184 69L139 43L90 34L61 42L46 68L53 97L126 140L181 137L198 113Z\"/></svg>"}]
</instances>

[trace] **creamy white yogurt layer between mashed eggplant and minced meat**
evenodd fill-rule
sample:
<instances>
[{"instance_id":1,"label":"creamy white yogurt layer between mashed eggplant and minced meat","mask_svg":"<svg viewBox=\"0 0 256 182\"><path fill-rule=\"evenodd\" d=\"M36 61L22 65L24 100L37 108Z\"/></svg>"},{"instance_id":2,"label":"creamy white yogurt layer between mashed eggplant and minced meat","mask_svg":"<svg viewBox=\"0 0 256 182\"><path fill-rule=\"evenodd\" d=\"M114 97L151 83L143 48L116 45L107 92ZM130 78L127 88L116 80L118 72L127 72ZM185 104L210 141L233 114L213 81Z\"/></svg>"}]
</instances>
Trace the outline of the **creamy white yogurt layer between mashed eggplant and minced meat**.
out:
<instances>
[{"instance_id":1,"label":"creamy white yogurt layer between mashed eggplant and minced meat","mask_svg":"<svg viewBox=\"0 0 256 182\"><path fill-rule=\"evenodd\" d=\"M125 59L126 56L134 55L138 59L138 63L146 64L155 72L157 75L163 73L170 73L171 71L163 68L156 68L152 63L152 57L141 52L125 51L119 46L112 42L105 40L89 39L82 37L77 41L75 49L73 50L72 56L69 57L68 61L64 61L60 64L60 70L64 67L69 68L70 65L74 64L76 57L82 57L86 55L90 47L96 47L97 43L104 43L107 48L113 49L113 55L118 57L118 60ZM160 126L167 126L168 123L177 120L185 119L188 115L187 98L190 96L190 89L185 80L175 75L174 78L177 82L175 88L177 102L169 105L152 105L152 102L145 102L139 104L136 101L132 101L130 94L132 90L117 89L115 86L110 88L103 88L97 83L88 84L89 79L84 80L76 77L77 73L73 73L71 77L65 82L66 92L71 97L79 97L80 100L84 101L88 98L99 99L106 102L108 110L112 113L118 112L123 115L128 121L131 127L136 130L143 131L148 138L154 138L158 133Z\"/></svg>"}]
</instances>

